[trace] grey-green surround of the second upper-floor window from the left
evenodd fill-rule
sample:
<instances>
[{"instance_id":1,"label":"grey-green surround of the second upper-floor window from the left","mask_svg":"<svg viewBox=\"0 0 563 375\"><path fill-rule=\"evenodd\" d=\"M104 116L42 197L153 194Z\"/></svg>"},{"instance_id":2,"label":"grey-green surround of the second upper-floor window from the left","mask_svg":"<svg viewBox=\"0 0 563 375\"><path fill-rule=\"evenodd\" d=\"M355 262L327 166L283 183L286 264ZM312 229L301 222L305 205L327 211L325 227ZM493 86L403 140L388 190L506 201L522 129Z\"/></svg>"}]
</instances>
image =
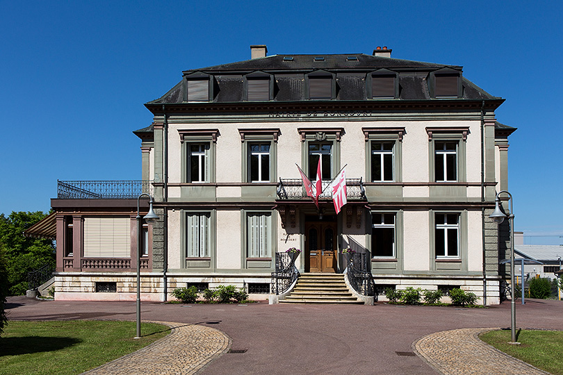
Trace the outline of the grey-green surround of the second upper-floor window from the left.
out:
<instances>
[{"instance_id":1,"label":"grey-green surround of the second upper-floor window from the left","mask_svg":"<svg viewBox=\"0 0 563 375\"><path fill-rule=\"evenodd\" d=\"M264 129L238 129L240 133L241 152L243 163L241 163L241 181L243 183L261 184L274 183L277 181L277 140L279 138L279 128ZM269 143L270 144L270 180L252 181L250 173L250 144Z\"/></svg>"}]
</instances>

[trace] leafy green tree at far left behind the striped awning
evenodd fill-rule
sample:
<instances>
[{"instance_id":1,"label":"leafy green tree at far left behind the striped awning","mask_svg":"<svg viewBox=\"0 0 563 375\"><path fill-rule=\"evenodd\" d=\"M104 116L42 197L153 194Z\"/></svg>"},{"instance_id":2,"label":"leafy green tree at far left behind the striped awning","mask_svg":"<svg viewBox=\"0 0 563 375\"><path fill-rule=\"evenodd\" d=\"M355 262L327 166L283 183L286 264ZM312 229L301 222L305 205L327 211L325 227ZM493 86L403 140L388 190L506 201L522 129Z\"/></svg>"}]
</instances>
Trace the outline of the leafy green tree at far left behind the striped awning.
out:
<instances>
[{"instance_id":1,"label":"leafy green tree at far left behind the striped awning","mask_svg":"<svg viewBox=\"0 0 563 375\"><path fill-rule=\"evenodd\" d=\"M8 295L25 294L27 273L43 265L55 265L55 247L52 240L24 237L24 231L46 217L41 211L35 213L11 213L0 215L0 247L6 257L8 273Z\"/></svg>"}]
</instances>

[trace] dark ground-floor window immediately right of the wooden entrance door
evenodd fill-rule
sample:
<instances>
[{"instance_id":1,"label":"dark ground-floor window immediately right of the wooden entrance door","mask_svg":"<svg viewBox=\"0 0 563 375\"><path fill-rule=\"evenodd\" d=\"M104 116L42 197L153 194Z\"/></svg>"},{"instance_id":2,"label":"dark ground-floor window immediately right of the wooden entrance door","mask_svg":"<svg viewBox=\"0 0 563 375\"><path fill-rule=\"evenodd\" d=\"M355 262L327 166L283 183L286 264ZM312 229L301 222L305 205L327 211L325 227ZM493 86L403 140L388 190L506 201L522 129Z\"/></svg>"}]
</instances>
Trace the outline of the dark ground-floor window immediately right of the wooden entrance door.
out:
<instances>
[{"instance_id":1,"label":"dark ground-floor window immediately right of the wooden entrance door","mask_svg":"<svg viewBox=\"0 0 563 375\"><path fill-rule=\"evenodd\" d=\"M373 258L396 258L394 213L372 214L371 253Z\"/></svg>"}]
</instances>

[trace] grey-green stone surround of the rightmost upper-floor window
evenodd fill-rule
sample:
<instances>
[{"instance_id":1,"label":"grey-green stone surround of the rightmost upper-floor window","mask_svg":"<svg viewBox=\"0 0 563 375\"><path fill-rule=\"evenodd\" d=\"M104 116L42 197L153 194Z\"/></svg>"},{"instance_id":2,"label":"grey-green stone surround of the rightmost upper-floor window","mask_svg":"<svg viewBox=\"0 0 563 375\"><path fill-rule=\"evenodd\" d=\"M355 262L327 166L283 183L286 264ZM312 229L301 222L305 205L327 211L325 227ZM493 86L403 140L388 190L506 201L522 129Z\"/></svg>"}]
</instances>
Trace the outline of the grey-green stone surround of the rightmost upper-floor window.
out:
<instances>
[{"instance_id":1,"label":"grey-green stone surround of the rightmost upper-floor window","mask_svg":"<svg viewBox=\"0 0 563 375\"><path fill-rule=\"evenodd\" d=\"M467 181L467 135L469 128L434 128L427 127L429 181L436 184L462 183ZM455 181L438 181L436 177L436 143L455 143L457 176ZM446 170L444 173L447 175Z\"/></svg>"}]
</instances>

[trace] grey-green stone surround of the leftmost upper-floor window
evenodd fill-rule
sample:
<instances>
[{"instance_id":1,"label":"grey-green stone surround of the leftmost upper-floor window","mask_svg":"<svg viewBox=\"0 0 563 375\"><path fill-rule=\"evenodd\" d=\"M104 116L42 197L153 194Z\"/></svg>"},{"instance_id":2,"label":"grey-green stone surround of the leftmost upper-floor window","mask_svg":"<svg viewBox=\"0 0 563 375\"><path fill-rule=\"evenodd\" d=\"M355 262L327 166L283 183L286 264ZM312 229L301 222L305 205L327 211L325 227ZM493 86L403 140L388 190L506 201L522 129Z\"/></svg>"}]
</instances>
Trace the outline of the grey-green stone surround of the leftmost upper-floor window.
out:
<instances>
[{"instance_id":1,"label":"grey-green stone surround of the leftmost upper-floor window","mask_svg":"<svg viewBox=\"0 0 563 375\"><path fill-rule=\"evenodd\" d=\"M194 185L215 183L215 157L218 129L179 130L181 142L181 182ZM206 157L206 176L204 181L193 181L190 176L190 146L193 144L209 144Z\"/></svg>"}]
</instances>

